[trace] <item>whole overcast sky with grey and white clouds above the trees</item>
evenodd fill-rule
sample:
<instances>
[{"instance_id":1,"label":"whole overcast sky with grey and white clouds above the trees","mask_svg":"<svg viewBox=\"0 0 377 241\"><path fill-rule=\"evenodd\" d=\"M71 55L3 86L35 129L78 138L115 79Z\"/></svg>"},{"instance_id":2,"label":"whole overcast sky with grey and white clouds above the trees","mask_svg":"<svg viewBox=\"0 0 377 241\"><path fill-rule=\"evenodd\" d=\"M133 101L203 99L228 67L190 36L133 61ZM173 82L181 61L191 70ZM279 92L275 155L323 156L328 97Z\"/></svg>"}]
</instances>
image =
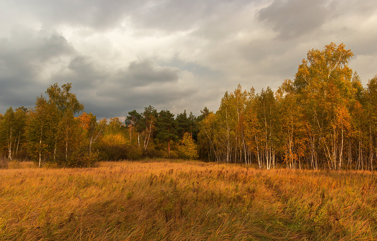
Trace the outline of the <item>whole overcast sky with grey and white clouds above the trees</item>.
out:
<instances>
[{"instance_id":1,"label":"whole overcast sky with grey and white clouds above the trees","mask_svg":"<svg viewBox=\"0 0 377 241\"><path fill-rule=\"evenodd\" d=\"M310 49L344 43L377 74L375 0L0 0L0 113L72 83L86 112L216 111L238 84L294 79Z\"/></svg>"}]
</instances>

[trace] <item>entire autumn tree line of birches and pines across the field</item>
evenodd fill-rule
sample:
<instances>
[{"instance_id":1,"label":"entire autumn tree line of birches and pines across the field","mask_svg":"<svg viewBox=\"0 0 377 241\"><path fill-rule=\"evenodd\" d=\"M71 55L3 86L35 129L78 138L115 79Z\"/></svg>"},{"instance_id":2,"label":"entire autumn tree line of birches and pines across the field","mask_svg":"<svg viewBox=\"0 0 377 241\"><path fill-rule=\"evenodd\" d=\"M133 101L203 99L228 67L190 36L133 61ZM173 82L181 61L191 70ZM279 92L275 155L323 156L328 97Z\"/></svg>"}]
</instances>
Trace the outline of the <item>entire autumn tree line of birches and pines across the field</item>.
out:
<instances>
[{"instance_id":1,"label":"entire autumn tree line of birches and pines across the field","mask_svg":"<svg viewBox=\"0 0 377 241\"><path fill-rule=\"evenodd\" d=\"M270 87L225 92L218 111L176 117L153 106L97 120L72 84L48 87L35 107L10 107L0 115L0 152L38 166L92 166L97 160L189 158L256 163L271 169L372 170L377 160L377 76L362 86L348 67L345 45L312 49L293 80ZM80 114L81 113L81 114ZM80 115L78 115L80 114ZM78 115L78 116L77 116Z\"/></svg>"}]
</instances>

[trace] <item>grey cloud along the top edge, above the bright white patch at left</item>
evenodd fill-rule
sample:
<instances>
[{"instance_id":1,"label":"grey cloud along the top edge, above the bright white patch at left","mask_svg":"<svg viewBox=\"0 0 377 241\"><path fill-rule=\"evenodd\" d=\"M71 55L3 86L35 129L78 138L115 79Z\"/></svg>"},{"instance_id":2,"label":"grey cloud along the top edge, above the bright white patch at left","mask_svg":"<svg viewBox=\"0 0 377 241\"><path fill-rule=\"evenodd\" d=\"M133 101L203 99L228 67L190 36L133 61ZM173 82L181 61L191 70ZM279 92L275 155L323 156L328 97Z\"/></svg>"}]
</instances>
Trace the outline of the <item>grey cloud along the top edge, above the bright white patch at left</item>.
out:
<instances>
[{"instance_id":1,"label":"grey cloud along the top edge, above the bright white patch at left","mask_svg":"<svg viewBox=\"0 0 377 241\"><path fill-rule=\"evenodd\" d=\"M16 14L37 20L44 26L73 25L89 26L105 30L119 24L130 12L143 6L146 1L23 1L8 3Z\"/></svg>"}]
</instances>

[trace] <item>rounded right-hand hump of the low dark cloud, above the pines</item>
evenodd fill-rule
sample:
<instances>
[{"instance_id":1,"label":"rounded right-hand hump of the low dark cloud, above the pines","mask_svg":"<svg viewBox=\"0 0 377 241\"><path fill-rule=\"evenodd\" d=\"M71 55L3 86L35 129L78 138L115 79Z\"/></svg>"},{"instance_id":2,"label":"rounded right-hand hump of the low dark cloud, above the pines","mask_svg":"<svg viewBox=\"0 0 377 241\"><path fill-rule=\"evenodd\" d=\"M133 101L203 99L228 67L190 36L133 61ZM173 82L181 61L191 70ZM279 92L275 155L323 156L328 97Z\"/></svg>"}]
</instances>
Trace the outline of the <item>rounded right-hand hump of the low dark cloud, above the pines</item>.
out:
<instances>
[{"instance_id":1,"label":"rounded right-hand hump of the low dark cloud, above the pines","mask_svg":"<svg viewBox=\"0 0 377 241\"><path fill-rule=\"evenodd\" d=\"M173 103L190 98L198 91L196 86L182 83L179 74L178 68L158 66L150 59L132 61L127 68L98 83L96 101L93 96L84 97L83 101L89 103L86 109L95 111L99 108L103 116L125 116L127 112L141 111L149 104L170 109Z\"/></svg>"}]
</instances>

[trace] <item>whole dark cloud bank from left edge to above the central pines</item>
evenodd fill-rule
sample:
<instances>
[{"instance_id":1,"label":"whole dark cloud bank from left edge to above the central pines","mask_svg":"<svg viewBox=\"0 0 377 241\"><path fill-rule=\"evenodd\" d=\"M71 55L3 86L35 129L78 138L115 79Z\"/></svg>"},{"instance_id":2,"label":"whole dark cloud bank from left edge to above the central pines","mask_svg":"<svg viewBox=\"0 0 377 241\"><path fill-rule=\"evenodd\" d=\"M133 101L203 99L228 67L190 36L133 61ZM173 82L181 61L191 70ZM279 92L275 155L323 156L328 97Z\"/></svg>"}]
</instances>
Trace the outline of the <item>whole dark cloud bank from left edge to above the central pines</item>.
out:
<instances>
[{"instance_id":1,"label":"whole dark cloud bank from left edge to above the central pines","mask_svg":"<svg viewBox=\"0 0 377 241\"><path fill-rule=\"evenodd\" d=\"M197 92L196 87L182 84L176 67L143 59L126 68L108 69L79 54L56 33L20 31L2 39L0 69L1 112L9 106L33 106L35 98L56 82L73 83L72 92L86 111L102 117L126 115L149 104L166 109Z\"/></svg>"}]
</instances>

